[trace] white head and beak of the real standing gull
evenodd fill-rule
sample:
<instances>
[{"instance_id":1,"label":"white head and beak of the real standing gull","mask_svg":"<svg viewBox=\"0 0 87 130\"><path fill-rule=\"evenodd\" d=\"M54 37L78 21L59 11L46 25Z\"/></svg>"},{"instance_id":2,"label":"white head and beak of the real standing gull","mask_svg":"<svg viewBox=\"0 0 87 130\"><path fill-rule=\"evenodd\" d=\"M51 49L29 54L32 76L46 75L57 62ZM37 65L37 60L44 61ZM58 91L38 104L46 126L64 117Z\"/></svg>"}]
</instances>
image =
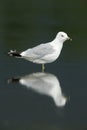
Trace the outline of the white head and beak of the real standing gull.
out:
<instances>
[{"instance_id":1,"label":"white head and beak of the real standing gull","mask_svg":"<svg viewBox=\"0 0 87 130\"><path fill-rule=\"evenodd\" d=\"M72 40L65 32L58 32L56 39L58 39L58 41L62 43L65 42L66 40Z\"/></svg>"}]
</instances>

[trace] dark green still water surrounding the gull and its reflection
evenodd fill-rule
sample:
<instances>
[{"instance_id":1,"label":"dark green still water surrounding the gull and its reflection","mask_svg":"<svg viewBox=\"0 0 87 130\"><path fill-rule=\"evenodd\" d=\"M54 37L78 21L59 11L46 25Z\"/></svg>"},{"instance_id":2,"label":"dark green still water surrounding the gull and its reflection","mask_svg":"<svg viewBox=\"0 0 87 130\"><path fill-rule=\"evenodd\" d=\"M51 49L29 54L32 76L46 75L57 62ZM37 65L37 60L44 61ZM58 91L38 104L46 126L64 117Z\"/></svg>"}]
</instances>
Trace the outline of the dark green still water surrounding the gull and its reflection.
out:
<instances>
[{"instance_id":1,"label":"dark green still water surrounding the gull and its reflection","mask_svg":"<svg viewBox=\"0 0 87 130\"><path fill-rule=\"evenodd\" d=\"M87 129L87 1L0 1L0 128L2 130ZM54 39L58 31L73 40L64 43L57 61L46 65L51 82L60 83L67 103L63 107L32 85L8 83L41 71L41 66L7 56ZM22 76L22 77L21 77ZM54 81L56 77L56 81ZM34 77L33 77L34 78ZM46 78L46 77L45 77ZM40 89L42 80L36 80ZM50 82L50 83L51 83ZM29 82L30 83L30 82ZM52 85L52 84L51 84ZM54 89L54 85L52 88ZM30 88L28 88L30 87ZM39 90L40 90L39 89Z\"/></svg>"}]
</instances>

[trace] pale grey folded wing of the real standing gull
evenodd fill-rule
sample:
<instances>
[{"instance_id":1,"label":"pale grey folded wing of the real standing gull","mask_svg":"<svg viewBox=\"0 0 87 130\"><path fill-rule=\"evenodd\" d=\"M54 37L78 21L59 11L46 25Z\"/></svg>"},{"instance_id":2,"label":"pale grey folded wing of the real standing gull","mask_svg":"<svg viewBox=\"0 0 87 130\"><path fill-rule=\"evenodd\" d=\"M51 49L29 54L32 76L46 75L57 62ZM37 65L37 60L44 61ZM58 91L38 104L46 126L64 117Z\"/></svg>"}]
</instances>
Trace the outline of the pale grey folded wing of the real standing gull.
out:
<instances>
[{"instance_id":1,"label":"pale grey folded wing of the real standing gull","mask_svg":"<svg viewBox=\"0 0 87 130\"><path fill-rule=\"evenodd\" d=\"M30 58L41 58L45 55L52 54L55 50L53 49L52 45L48 44L41 44L34 48L28 49L25 51L25 56Z\"/></svg>"}]
</instances>

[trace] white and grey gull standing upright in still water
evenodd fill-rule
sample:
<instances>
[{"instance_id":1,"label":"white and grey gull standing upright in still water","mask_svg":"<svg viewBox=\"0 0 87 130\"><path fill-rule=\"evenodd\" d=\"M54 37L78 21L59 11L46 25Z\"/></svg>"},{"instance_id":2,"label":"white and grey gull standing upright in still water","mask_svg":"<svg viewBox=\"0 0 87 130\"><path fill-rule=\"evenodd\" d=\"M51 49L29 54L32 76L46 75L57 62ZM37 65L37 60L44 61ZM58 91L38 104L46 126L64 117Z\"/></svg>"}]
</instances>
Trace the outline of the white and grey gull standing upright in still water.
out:
<instances>
[{"instance_id":1,"label":"white and grey gull standing upright in still water","mask_svg":"<svg viewBox=\"0 0 87 130\"><path fill-rule=\"evenodd\" d=\"M16 50L10 50L8 54L24 58L33 63L42 64L42 70L44 70L44 64L54 62L59 57L63 43L66 40L71 39L65 32L58 32L55 39L51 42L40 44L21 53Z\"/></svg>"}]
</instances>

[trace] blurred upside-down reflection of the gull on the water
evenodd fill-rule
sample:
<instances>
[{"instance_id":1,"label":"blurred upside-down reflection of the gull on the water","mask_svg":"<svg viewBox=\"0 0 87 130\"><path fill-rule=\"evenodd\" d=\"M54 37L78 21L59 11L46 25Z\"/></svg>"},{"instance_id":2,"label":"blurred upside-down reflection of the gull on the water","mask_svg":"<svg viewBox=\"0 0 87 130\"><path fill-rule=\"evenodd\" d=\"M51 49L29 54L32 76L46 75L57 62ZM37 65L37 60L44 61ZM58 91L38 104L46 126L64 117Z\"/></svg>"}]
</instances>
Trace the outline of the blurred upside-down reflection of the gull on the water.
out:
<instances>
[{"instance_id":1,"label":"blurred upside-down reflection of the gull on the water","mask_svg":"<svg viewBox=\"0 0 87 130\"><path fill-rule=\"evenodd\" d=\"M37 72L20 78L12 78L9 81L18 81L28 89L50 96L57 107L64 107L66 105L67 97L63 95L59 80L53 74Z\"/></svg>"}]
</instances>

